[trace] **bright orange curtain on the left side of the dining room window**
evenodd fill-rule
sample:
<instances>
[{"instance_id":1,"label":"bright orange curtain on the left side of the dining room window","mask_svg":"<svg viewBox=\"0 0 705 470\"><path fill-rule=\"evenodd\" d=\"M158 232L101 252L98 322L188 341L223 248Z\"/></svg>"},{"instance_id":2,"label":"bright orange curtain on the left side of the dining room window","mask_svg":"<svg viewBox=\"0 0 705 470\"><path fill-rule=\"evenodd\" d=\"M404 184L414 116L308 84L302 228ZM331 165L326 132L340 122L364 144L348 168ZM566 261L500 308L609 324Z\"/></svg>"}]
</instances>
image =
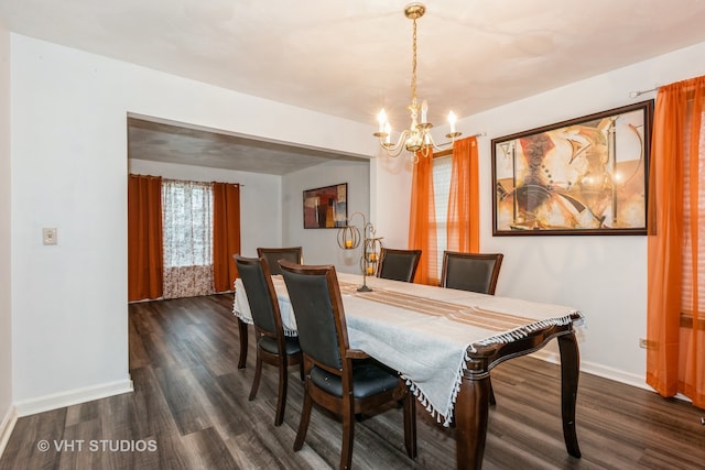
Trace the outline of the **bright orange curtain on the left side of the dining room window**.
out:
<instances>
[{"instance_id":1,"label":"bright orange curtain on the left side of the dining room window","mask_svg":"<svg viewBox=\"0 0 705 470\"><path fill-rule=\"evenodd\" d=\"M411 214L409 218L409 248L421 250L421 260L416 269L414 282L437 285L438 270L436 242L436 209L433 192L433 155L416 155L411 179Z\"/></svg>"}]
</instances>

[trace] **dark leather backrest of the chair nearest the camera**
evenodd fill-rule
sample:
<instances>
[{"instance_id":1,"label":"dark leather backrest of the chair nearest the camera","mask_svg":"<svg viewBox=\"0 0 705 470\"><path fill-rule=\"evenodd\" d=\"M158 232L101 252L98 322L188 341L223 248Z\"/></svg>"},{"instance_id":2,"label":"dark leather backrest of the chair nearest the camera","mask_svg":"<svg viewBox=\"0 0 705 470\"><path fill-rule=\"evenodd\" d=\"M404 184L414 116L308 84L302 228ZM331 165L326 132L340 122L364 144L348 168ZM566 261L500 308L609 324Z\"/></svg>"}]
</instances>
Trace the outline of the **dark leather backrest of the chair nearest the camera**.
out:
<instances>
[{"instance_id":1,"label":"dark leather backrest of the chair nearest the camera","mask_svg":"<svg viewBox=\"0 0 705 470\"><path fill-rule=\"evenodd\" d=\"M296 318L301 350L317 363L343 370L341 358L349 343L335 267L288 261L279 264Z\"/></svg>"}]
</instances>

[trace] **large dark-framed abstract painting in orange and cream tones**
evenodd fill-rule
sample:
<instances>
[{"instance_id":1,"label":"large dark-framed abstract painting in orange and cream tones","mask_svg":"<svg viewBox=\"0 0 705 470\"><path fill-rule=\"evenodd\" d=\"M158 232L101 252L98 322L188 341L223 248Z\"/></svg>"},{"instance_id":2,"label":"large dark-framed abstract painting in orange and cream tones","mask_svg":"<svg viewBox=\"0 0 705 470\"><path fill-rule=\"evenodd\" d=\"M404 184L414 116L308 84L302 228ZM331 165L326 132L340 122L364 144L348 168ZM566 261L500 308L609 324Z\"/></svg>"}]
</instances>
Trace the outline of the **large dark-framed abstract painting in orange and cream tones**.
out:
<instances>
[{"instance_id":1,"label":"large dark-framed abstract painting in orange and cream tones","mask_svg":"<svg viewBox=\"0 0 705 470\"><path fill-rule=\"evenodd\" d=\"M653 100L491 141L492 236L646 234Z\"/></svg>"}]
</instances>

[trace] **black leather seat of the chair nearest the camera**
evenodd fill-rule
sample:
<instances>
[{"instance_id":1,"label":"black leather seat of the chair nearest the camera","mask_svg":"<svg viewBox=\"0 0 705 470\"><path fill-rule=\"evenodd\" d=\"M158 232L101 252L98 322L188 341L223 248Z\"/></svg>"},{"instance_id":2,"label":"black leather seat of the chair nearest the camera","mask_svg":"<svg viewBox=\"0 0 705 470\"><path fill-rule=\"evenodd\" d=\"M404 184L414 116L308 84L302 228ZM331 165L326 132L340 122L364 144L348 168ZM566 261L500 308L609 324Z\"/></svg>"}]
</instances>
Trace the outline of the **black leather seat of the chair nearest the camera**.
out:
<instances>
[{"instance_id":1,"label":"black leather seat of the chair nearest the camera","mask_svg":"<svg viewBox=\"0 0 705 470\"><path fill-rule=\"evenodd\" d=\"M338 375L314 367L311 381L330 395L343 396L343 381ZM352 396L366 398L394 390L399 385L399 375L375 360L358 360L352 362Z\"/></svg>"}]
</instances>

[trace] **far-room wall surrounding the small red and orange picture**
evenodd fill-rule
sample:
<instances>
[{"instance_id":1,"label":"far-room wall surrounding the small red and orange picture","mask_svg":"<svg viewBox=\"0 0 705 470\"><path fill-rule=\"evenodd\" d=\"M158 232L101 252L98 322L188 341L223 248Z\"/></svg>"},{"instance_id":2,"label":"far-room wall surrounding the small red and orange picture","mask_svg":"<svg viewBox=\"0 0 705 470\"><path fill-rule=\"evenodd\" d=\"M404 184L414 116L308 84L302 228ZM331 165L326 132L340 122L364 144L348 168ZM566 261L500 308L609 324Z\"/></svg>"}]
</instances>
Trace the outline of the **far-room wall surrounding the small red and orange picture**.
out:
<instances>
[{"instance_id":1,"label":"far-room wall surrounding the small red and orange picture","mask_svg":"<svg viewBox=\"0 0 705 470\"><path fill-rule=\"evenodd\" d=\"M370 163L369 161L336 160L285 175L282 181L283 245L301 245L306 264L334 264L336 270L359 273L361 248L338 248L336 229L304 229L303 192L323 186L348 184L348 218L362 212L370 220ZM362 219L355 216L351 222L361 229ZM380 234L382 234L380 232Z\"/></svg>"}]
</instances>

